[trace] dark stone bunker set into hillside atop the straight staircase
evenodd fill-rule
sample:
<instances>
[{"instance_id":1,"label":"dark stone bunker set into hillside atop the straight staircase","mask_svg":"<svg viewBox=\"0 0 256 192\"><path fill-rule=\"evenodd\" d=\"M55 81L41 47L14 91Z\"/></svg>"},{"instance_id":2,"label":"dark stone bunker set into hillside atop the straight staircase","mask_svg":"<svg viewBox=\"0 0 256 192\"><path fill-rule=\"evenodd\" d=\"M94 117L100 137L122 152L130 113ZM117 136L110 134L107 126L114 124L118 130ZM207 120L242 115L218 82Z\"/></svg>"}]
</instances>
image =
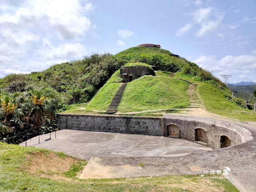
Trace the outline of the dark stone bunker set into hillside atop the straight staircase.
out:
<instances>
[{"instance_id":1,"label":"dark stone bunker set into hillside atop the straight staircase","mask_svg":"<svg viewBox=\"0 0 256 192\"><path fill-rule=\"evenodd\" d=\"M120 68L120 77L124 82L131 82L132 80L138 79L144 75L155 76L154 70L147 66L137 65L137 66L123 66Z\"/></svg>"}]
</instances>

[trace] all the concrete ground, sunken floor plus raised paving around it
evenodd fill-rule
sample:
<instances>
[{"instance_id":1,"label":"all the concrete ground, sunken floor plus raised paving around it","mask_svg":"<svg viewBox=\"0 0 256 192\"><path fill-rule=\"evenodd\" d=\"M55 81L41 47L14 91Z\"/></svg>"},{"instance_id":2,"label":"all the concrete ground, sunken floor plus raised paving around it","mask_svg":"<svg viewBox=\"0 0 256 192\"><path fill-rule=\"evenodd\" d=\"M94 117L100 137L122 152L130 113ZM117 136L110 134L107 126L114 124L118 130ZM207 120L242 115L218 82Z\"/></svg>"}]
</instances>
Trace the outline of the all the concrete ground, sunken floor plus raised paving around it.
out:
<instances>
[{"instance_id":1,"label":"all the concrete ground, sunken floor plus raised paving around it","mask_svg":"<svg viewBox=\"0 0 256 192\"><path fill-rule=\"evenodd\" d=\"M230 121L226 121L230 122ZM250 130L253 140L211 150L185 140L158 136L62 130L27 141L28 146L62 151L89 160L80 178L202 174L230 168L227 178L241 192L256 192L256 122L231 122ZM25 144L22 143L22 146Z\"/></svg>"}]
</instances>

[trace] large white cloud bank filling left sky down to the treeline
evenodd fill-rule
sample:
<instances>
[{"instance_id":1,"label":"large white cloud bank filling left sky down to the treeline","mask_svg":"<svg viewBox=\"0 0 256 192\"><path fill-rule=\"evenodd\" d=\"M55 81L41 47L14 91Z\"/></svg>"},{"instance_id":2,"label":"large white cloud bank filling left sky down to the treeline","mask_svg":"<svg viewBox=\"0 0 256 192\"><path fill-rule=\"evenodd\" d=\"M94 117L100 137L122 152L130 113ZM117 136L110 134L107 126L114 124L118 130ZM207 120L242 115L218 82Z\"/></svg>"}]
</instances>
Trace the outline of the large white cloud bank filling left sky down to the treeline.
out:
<instances>
[{"instance_id":1,"label":"large white cloud bank filling left sky down to the treeline","mask_svg":"<svg viewBox=\"0 0 256 192\"><path fill-rule=\"evenodd\" d=\"M87 0L1 1L0 78L82 58L82 38L99 38L86 16L92 10Z\"/></svg>"}]
</instances>

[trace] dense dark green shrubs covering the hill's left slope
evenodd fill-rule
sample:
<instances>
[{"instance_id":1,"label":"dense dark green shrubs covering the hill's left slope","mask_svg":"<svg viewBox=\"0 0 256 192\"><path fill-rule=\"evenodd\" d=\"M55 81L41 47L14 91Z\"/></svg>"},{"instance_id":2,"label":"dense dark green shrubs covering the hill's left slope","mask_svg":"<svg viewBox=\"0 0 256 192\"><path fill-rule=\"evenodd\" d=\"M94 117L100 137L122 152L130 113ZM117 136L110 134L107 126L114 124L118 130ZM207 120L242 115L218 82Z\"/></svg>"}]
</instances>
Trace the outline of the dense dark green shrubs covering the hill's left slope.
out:
<instances>
[{"instance_id":1,"label":"dense dark green shrubs covering the hill's left slope","mask_svg":"<svg viewBox=\"0 0 256 192\"><path fill-rule=\"evenodd\" d=\"M87 102L126 62L108 53L92 54L42 72L7 75L0 79L0 91L24 92L32 85L55 90L64 104Z\"/></svg>"}]
</instances>

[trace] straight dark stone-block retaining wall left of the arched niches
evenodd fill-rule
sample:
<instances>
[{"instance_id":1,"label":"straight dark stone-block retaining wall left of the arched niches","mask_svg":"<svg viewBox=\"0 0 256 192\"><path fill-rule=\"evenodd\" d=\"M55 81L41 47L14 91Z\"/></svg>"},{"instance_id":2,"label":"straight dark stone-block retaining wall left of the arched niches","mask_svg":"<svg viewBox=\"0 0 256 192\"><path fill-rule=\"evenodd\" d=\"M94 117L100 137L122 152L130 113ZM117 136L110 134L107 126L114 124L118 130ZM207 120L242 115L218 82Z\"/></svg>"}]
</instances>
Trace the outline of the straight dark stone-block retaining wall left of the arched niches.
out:
<instances>
[{"instance_id":1,"label":"straight dark stone-block retaining wall left of the arched niches","mask_svg":"<svg viewBox=\"0 0 256 192\"><path fill-rule=\"evenodd\" d=\"M162 136L162 118L58 114L58 128Z\"/></svg>"}]
</instances>

